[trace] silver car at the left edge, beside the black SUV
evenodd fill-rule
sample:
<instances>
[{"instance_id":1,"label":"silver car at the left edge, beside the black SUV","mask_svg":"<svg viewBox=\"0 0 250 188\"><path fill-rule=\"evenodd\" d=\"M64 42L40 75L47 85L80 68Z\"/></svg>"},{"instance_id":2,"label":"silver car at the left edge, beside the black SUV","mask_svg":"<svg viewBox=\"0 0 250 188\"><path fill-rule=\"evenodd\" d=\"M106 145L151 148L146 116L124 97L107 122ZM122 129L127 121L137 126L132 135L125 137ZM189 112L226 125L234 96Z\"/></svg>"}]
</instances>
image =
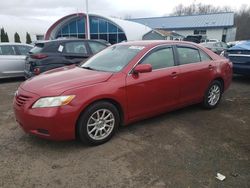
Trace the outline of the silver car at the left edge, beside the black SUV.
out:
<instances>
[{"instance_id":1,"label":"silver car at the left edge, beside the black SUV","mask_svg":"<svg viewBox=\"0 0 250 188\"><path fill-rule=\"evenodd\" d=\"M0 43L0 78L24 76L26 54L33 46L20 43Z\"/></svg>"}]
</instances>

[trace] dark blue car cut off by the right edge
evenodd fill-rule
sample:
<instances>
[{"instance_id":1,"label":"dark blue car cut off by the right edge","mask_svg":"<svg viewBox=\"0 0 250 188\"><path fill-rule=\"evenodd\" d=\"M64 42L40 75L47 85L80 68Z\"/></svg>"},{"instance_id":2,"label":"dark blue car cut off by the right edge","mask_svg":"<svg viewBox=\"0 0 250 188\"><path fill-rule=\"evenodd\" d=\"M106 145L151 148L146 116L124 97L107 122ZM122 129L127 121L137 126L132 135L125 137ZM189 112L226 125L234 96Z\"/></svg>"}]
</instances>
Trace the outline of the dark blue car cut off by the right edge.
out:
<instances>
[{"instance_id":1,"label":"dark blue car cut off by the right edge","mask_svg":"<svg viewBox=\"0 0 250 188\"><path fill-rule=\"evenodd\" d=\"M225 57L233 62L233 72L250 76L250 40L243 41L229 48Z\"/></svg>"}]
</instances>

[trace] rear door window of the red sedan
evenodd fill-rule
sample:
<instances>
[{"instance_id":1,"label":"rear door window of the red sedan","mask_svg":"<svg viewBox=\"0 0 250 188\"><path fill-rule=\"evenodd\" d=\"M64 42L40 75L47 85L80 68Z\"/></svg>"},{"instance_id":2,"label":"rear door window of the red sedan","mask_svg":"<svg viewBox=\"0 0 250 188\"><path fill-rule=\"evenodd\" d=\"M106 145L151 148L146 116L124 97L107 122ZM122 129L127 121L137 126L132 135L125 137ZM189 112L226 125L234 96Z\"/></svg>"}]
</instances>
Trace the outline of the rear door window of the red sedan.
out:
<instances>
[{"instance_id":1,"label":"rear door window of the red sedan","mask_svg":"<svg viewBox=\"0 0 250 188\"><path fill-rule=\"evenodd\" d=\"M189 47L177 47L181 65L200 62L200 54L197 49Z\"/></svg>"}]
</instances>

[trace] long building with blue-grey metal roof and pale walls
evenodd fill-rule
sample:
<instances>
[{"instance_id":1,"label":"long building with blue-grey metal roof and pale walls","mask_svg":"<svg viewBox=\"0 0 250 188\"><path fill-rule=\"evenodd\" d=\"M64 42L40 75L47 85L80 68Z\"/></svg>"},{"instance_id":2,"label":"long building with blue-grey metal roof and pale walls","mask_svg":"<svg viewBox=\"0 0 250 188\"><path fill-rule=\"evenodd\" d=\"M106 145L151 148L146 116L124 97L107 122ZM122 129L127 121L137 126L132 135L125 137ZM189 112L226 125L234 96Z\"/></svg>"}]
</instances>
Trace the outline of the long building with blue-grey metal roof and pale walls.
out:
<instances>
[{"instance_id":1,"label":"long building with blue-grey metal roof and pale walls","mask_svg":"<svg viewBox=\"0 0 250 188\"><path fill-rule=\"evenodd\" d=\"M188 35L202 35L203 39L217 39L229 42L234 41L236 35L233 12L137 18L129 19L129 21L144 24L152 29L172 31L185 37ZM152 33L149 34L152 38Z\"/></svg>"}]
</instances>

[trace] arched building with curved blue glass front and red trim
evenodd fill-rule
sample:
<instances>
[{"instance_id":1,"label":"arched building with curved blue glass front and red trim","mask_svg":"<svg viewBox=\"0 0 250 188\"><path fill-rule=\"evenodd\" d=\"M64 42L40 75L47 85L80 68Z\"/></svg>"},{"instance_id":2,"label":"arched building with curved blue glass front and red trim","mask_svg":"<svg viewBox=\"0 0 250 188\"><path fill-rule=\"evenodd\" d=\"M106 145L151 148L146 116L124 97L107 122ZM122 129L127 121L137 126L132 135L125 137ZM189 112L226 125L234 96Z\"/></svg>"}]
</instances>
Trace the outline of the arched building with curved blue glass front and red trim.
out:
<instances>
[{"instance_id":1,"label":"arched building with curved blue glass front and red trim","mask_svg":"<svg viewBox=\"0 0 250 188\"><path fill-rule=\"evenodd\" d=\"M143 36L152 29L140 24L117 18L89 14L89 24L86 14L76 13L67 15L55 22L45 34L45 40L61 37L87 38L89 26L91 39L102 39L111 44L122 41L142 40Z\"/></svg>"}]
</instances>

